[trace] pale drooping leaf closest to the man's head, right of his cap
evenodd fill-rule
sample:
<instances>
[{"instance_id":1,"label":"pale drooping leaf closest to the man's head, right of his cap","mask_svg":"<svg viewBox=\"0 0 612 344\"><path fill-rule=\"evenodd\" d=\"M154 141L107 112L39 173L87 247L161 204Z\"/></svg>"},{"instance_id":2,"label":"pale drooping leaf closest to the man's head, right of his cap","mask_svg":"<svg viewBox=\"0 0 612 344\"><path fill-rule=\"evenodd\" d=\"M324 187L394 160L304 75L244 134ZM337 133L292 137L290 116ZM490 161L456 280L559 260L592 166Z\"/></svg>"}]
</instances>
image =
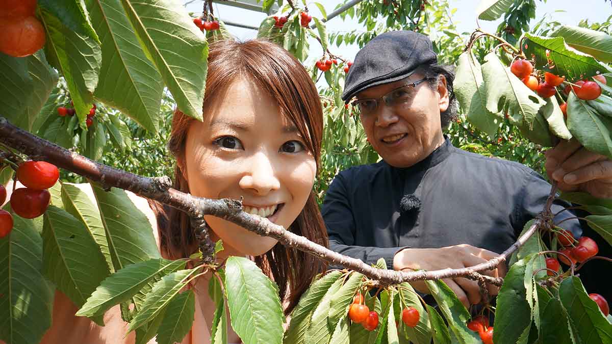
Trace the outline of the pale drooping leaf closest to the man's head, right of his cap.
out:
<instances>
[{"instance_id":1,"label":"pale drooping leaf closest to the man's head, right of his cap","mask_svg":"<svg viewBox=\"0 0 612 344\"><path fill-rule=\"evenodd\" d=\"M461 111L468 116L468 121L477 129L487 133L490 138L494 138L502 122L502 116L487 109L487 92L482 70L469 51L459 56L454 86Z\"/></svg>"}]
</instances>

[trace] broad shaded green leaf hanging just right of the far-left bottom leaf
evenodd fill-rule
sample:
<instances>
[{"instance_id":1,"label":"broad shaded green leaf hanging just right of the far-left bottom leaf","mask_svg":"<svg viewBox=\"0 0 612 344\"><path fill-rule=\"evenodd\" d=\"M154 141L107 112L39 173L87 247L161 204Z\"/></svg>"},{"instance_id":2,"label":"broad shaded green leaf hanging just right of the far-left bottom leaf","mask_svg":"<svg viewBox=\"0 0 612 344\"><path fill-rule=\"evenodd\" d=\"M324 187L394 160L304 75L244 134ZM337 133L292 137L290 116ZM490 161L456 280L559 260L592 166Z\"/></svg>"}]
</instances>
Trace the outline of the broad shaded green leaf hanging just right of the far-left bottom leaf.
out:
<instances>
[{"instance_id":1,"label":"broad shaded green leaf hanging just right of the far-left bottom leaf","mask_svg":"<svg viewBox=\"0 0 612 344\"><path fill-rule=\"evenodd\" d=\"M43 274L81 307L110 275L98 245L82 222L55 206L45 212L42 239Z\"/></svg>"}]
</instances>

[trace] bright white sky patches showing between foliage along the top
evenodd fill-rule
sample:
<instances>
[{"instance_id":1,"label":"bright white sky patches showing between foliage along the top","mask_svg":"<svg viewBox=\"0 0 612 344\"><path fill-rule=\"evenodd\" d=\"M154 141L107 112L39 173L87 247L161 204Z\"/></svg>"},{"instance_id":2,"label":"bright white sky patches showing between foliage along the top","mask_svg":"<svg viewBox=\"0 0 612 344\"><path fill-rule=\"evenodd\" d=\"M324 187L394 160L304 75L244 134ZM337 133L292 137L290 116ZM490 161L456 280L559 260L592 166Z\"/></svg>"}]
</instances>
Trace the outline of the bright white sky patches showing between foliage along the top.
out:
<instances>
[{"instance_id":1,"label":"bright white sky patches showing between foliage along the top","mask_svg":"<svg viewBox=\"0 0 612 344\"><path fill-rule=\"evenodd\" d=\"M231 0L228 0L231 1ZM301 3L299 0L294 0ZM382 0L381 0L382 1ZM457 8L457 12L452 16L452 21L457 25L458 32L471 32L476 28L476 7L480 0L449 0L451 8ZM184 2L187 2L184 0ZM201 12L203 1L189 1L187 9L190 12ZM309 1L310 2L310 1ZM340 0L319 0L319 3L325 6L326 12L333 12ZM319 9L312 5L308 6L308 10L313 17L323 17ZM239 9L232 6L214 4L215 15L224 21L232 21L250 26L259 26L261 21L266 18L266 13L254 12L250 10ZM605 2L604 0L542 0L536 1L536 18L532 20L532 24L536 23L543 16L547 15L549 20L557 20L564 24L577 25L581 19L588 19L590 22L602 22L612 15L612 0ZM499 21L480 21L480 26L488 32L494 32ZM246 40L256 36L256 31L252 29L237 28L228 26L231 34L237 39ZM343 21L340 17L335 17L327 23L327 32L347 32L353 29L365 31L363 26L357 24L356 19L346 17ZM315 59L320 58L323 54L321 46L316 40L310 40L310 58L307 61L312 63ZM343 56L347 59L353 59L359 48L356 44L342 45L341 47L330 47L335 54Z\"/></svg>"}]
</instances>

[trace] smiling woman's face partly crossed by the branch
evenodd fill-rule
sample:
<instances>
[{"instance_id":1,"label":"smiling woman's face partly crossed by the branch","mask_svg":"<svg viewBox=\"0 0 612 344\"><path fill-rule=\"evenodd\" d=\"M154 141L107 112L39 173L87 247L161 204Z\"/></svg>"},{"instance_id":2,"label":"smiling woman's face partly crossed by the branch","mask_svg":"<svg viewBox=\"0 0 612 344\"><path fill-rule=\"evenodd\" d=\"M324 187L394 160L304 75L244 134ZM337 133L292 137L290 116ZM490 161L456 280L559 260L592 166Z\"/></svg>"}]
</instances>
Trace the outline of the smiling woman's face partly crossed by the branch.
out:
<instances>
[{"instance_id":1,"label":"smiling woman's face partly crossed by the branch","mask_svg":"<svg viewBox=\"0 0 612 344\"><path fill-rule=\"evenodd\" d=\"M239 78L204 121L187 132L184 170L189 190L206 198L244 198L244 211L288 228L313 187L315 157L277 102L249 78ZM214 216L212 239L226 254L261 255L277 241Z\"/></svg>"}]
</instances>

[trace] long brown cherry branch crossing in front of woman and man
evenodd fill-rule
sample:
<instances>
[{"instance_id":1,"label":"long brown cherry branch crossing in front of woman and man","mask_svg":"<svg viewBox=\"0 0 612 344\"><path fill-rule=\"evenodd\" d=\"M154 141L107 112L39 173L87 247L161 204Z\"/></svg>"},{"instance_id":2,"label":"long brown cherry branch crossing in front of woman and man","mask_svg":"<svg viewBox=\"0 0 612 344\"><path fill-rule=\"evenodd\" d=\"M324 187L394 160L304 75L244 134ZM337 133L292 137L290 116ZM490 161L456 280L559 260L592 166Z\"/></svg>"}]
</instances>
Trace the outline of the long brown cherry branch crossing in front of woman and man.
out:
<instances>
[{"instance_id":1,"label":"long brown cherry branch crossing in front of woman and man","mask_svg":"<svg viewBox=\"0 0 612 344\"><path fill-rule=\"evenodd\" d=\"M309 241L304 236L291 233L282 226L269 222L267 219L242 211L241 201L228 199L212 200L192 196L171 188L171 181L168 177L146 178L94 162L82 155L70 152L32 133L19 129L2 117L0 117L0 143L29 155L31 159L47 161L65 170L80 174L91 181L102 184L105 189L118 187L129 190L137 195L180 209L193 218L201 218L203 215L220 217L261 236L273 237L285 246L294 247L295 249L318 256L329 263L360 272L370 277L370 279L378 280L381 285L417 280L446 279L450 277L467 277L473 280L484 279L487 283L501 285L503 282L501 278L488 277L480 274L480 272L494 269L506 261L508 256L518 250L537 231L539 226L545 226L550 222L550 206L553 203L557 189L556 183L553 182L545 209L529 230L518 238L518 241L510 246L509 249L496 258L487 261L487 263L463 267L461 269L405 272L378 269L356 258L333 252L326 247Z\"/></svg>"}]
</instances>

